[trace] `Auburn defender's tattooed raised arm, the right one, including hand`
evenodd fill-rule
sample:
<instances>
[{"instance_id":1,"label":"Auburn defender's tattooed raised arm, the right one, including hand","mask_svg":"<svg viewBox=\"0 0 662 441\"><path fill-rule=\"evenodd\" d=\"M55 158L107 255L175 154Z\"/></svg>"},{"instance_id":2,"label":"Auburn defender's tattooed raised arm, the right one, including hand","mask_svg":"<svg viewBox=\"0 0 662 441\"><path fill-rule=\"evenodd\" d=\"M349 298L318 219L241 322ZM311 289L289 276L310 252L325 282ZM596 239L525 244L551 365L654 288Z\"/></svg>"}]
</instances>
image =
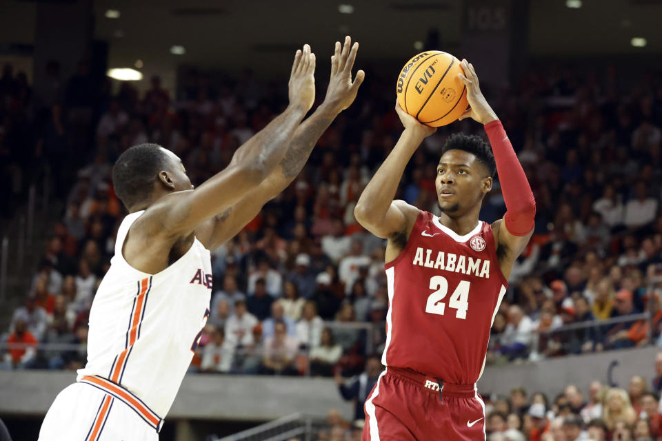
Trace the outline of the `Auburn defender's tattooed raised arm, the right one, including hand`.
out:
<instances>
[{"instance_id":1,"label":"Auburn defender's tattooed raised arm, the right one, including hand","mask_svg":"<svg viewBox=\"0 0 662 441\"><path fill-rule=\"evenodd\" d=\"M350 49L351 46L351 49ZM342 46L337 41L331 57L331 79L323 103L294 132L285 155L265 180L241 200L196 229L196 236L208 249L214 249L235 236L262 209L294 181L308 161L320 136L336 116L352 104L365 74L362 70L352 82L352 67L359 43L350 37Z\"/></svg>"}]
</instances>

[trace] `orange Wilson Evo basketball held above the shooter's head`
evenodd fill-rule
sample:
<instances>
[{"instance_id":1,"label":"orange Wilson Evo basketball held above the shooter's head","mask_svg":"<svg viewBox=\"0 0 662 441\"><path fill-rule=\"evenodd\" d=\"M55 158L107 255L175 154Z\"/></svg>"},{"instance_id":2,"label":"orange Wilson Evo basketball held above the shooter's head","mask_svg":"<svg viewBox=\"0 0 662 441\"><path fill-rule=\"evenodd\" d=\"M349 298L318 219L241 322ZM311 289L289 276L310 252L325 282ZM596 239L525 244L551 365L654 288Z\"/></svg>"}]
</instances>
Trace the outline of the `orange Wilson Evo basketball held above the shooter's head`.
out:
<instances>
[{"instance_id":1,"label":"orange Wilson Evo basketball held above the shooter's head","mask_svg":"<svg viewBox=\"0 0 662 441\"><path fill-rule=\"evenodd\" d=\"M426 125L450 124L467 110L467 89L459 59L439 50L421 52L400 72L396 92L400 107Z\"/></svg>"}]
</instances>

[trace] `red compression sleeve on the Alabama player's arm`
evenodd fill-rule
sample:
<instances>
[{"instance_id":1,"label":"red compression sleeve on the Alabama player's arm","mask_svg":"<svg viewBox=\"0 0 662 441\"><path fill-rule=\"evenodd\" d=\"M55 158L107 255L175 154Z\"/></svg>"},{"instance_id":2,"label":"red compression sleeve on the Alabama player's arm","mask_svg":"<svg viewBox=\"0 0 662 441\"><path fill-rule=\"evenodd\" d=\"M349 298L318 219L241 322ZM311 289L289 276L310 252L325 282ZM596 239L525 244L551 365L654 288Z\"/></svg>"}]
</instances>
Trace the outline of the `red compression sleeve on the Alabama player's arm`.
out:
<instances>
[{"instance_id":1,"label":"red compression sleeve on the Alabama player's arm","mask_svg":"<svg viewBox=\"0 0 662 441\"><path fill-rule=\"evenodd\" d=\"M513 236L526 236L535 225L536 201L519 159L512 150L501 121L485 124L490 139L496 172L499 174L503 201L505 201L505 227Z\"/></svg>"}]
</instances>

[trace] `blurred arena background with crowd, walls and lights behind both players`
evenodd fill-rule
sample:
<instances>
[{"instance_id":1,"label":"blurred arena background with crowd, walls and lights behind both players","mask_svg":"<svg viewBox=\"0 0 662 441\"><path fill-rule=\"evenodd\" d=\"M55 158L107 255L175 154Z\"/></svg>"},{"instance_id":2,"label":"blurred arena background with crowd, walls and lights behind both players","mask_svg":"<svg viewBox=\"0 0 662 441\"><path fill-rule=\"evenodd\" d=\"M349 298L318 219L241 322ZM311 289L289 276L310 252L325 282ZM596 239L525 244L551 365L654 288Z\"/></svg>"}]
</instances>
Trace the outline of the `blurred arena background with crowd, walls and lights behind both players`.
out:
<instances>
[{"instance_id":1,"label":"blurred arena background with crowd, walls and lights behind both players","mask_svg":"<svg viewBox=\"0 0 662 441\"><path fill-rule=\"evenodd\" d=\"M159 143L205 181L283 110L303 43L323 99L345 34L366 72L357 101L212 252L212 314L161 440L360 439L388 296L385 244L353 209L401 132L397 74L423 50L474 64L536 196L479 381L488 439L659 439L662 2L347 1L0 2L0 419L14 440L37 439L86 362L126 214L117 156ZM454 132L484 136L441 127L399 198L439 214ZM481 219L504 211L497 184Z\"/></svg>"}]
</instances>

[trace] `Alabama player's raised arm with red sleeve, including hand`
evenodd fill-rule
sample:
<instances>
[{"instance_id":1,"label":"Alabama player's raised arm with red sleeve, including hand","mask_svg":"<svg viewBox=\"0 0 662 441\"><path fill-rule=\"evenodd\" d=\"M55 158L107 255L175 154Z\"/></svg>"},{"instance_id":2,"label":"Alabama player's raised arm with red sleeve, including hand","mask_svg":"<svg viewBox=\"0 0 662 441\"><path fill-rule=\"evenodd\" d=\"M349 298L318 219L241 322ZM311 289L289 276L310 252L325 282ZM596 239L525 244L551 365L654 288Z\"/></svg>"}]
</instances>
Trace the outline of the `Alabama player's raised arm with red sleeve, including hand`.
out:
<instances>
[{"instance_id":1,"label":"Alabama player's raised arm with red sleeve, including hand","mask_svg":"<svg viewBox=\"0 0 662 441\"><path fill-rule=\"evenodd\" d=\"M459 74L459 77L467 86L471 109L460 119L472 118L485 126L494 153L496 172L499 174L506 212L502 219L492 224L492 229L499 255L503 256L503 274L508 277L512 263L524 251L533 234L536 201L501 121L481 92L474 66L466 60L461 62L461 66L464 75Z\"/></svg>"}]
</instances>

